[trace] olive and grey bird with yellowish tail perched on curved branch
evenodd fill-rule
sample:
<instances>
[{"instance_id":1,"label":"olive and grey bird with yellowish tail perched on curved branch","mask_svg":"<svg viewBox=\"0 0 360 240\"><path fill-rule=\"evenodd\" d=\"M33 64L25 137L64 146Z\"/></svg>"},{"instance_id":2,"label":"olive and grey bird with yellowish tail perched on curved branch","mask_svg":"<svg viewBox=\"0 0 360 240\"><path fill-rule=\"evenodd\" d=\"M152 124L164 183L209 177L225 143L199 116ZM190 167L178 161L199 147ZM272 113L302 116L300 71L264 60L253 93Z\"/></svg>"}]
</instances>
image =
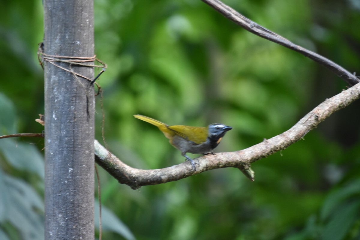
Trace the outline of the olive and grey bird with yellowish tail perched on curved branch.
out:
<instances>
[{"instance_id":1,"label":"olive and grey bird with yellowish tail perched on curved branch","mask_svg":"<svg viewBox=\"0 0 360 240\"><path fill-rule=\"evenodd\" d=\"M210 153L219 145L225 133L233 129L221 123L212 123L207 127L169 126L147 116L136 114L134 117L157 126L169 139L170 144L179 149L181 155L191 163L194 171L196 170L194 161L186 153L204 155Z\"/></svg>"}]
</instances>

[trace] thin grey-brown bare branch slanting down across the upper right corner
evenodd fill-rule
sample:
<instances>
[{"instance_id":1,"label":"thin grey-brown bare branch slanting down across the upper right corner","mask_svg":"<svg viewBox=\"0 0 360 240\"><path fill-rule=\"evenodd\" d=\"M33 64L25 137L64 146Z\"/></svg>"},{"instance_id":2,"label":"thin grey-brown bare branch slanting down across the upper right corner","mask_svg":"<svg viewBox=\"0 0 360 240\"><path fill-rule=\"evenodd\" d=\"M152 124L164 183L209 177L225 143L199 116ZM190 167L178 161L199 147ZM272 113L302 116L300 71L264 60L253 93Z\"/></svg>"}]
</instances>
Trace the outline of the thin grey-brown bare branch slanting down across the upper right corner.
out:
<instances>
[{"instance_id":1,"label":"thin grey-brown bare branch slanting down across the upper right corner","mask_svg":"<svg viewBox=\"0 0 360 240\"><path fill-rule=\"evenodd\" d=\"M315 62L323 65L324 67L330 69L330 71L334 72L337 76L345 80L350 86L354 86L356 83L360 82L359 78L355 76L355 74L350 73L345 68L340 65L332 62L331 60L321 56L320 54L314 53L313 51L307 50L304 47L298 46L288 39L260 26L256 22L251 21L250 19L244 17L233 8L230 8L228 5L222 3L219 0L201 0L207 5L211 6L217 12L221 13L225 18L230 19L234 23L238 24L240 27L245 30L262 37L264 39L270 40L277 44L280 44L284 47L292 49L302 55L314 60Z\"/></svg>"}]
</instances>

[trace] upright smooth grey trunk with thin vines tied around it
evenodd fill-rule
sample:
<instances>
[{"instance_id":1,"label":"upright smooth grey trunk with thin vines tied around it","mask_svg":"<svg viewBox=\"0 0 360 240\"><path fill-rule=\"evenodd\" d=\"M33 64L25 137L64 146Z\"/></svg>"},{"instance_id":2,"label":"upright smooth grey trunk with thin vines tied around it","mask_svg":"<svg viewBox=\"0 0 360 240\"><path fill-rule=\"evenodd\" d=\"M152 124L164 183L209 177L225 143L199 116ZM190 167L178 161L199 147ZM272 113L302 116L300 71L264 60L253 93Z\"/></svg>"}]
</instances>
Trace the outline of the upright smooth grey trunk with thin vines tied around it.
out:
<instances>
[{"instance_id":1,"label":"upright smooth grey trunk with thin vines tied around it","mask_svg":"<svg viewBox=\"0 0 360 240\"><path fill-rule=\"evenodd\" d=\"M44 1L44 56L94 55L92 0ZM45 55L46 54L46 55ZM68 60L64 58L56 58ZM94 69L64 62L92 79ZM94 88L44 61L45 240L94 239Z\"/></svg>"}]
</instances>

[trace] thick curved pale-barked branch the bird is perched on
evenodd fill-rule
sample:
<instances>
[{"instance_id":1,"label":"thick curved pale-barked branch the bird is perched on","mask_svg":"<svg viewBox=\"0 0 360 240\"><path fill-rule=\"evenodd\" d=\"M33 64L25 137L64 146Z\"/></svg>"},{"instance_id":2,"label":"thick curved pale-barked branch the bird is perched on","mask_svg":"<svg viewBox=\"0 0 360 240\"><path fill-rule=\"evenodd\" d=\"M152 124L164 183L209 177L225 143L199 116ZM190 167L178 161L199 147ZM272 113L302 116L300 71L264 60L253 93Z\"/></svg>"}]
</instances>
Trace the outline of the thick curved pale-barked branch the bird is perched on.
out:
<instances>
[{"instance_id":1,"label":"thick curved pale-barked branch the bird is perched on","mask_svg":"<svg viewBox=\"0 0 360 240\"><path fill-rule=\"evenodd\" d=\"M189 162L184 162L168 168L142 170L127 166L117 157L106 150L95 140L95 161L116 178L121 184L129 185L132 189L138 189L145 185L156 185L171 181L177 181L197 173L215 168L235 167L239 168L248 178L253 180L254 173L250 164L283 150L299 141L310 130L329 117L332 113L345 108L347 105L359 99L360 83L342 91L341 93L325 100L314 108L305 117L300 119L288 131L271 139L264 139L259 144L247 149L228 153L208 154L194 159L196 170L192 170Z\"/></svg>"}]
</instances>

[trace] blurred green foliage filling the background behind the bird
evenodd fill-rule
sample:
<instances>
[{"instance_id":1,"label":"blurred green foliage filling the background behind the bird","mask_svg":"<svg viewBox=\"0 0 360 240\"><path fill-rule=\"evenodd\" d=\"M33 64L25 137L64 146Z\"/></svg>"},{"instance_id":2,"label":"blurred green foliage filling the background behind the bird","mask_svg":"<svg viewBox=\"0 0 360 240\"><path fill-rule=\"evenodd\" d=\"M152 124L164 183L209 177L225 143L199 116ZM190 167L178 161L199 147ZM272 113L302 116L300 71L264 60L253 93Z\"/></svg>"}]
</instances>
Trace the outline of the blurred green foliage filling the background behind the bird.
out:
<instances>
[{"instance_id":1,"label":"blurred green foliage filling the background behind the bird","mask_svg":"<svg viewBox=\"0 0 360 240\"><path fill-rule=\"evenodd\" d=\"M296 44L359 71L359 1L224 2ZM43 73L36 57L43 34L41 1L7 1L3 7L0 91L10 99L3 102L13 105L10 116L2 111L1 134L41 132L33 121L44 113ZM201 1L96 0L94 8L96 54L109 67L98 81L104 91L105 139L132 167L184 161L156 127L133 114L168 124L225 123L234 129L216 151L235 151L282 133L347 87L327 69L248 33ZM102 203L136 239L358 239L358 109L356 102L304 140L254 163L255 182L238 169L217 169L134 191L99 169ZM100 97L96 112L100 140ZM11 116L16 120L9 121ZM19 151L30 142L43 148L42 140L15 141ZM0 140L0 146L5 144ZM26 181L41 195L43 176L22 168L23 162L16 165L6 149L0 167L8 180ZM5 214L0 208L0 238L21 239L17 226L3 221ZM119 231L106 229L104 239L121 239Z\"/></svg>"}]
</instances>

